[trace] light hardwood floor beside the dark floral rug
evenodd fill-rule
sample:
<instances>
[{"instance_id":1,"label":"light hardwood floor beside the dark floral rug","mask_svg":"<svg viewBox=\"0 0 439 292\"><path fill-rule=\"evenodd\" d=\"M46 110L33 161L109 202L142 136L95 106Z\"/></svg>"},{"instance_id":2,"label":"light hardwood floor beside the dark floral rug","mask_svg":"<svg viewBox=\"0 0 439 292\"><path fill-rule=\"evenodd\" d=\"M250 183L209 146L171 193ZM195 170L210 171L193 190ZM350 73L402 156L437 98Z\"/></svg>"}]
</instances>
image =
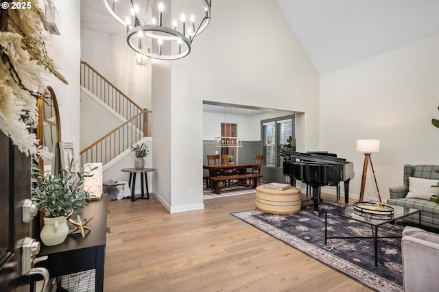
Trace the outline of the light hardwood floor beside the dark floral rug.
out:
<instances>
[{"instance_id":1,"label":"light hardwood floor beside the dark floral rug","mask_svg":"<svg viewBox=\"0 0 439 292\"><path fill-rule=\"evenodd\" d=\"M108 202L104 291L371 291L230 215L254 209L254 193L204 207Z\"/></svg>"}]
</instances>

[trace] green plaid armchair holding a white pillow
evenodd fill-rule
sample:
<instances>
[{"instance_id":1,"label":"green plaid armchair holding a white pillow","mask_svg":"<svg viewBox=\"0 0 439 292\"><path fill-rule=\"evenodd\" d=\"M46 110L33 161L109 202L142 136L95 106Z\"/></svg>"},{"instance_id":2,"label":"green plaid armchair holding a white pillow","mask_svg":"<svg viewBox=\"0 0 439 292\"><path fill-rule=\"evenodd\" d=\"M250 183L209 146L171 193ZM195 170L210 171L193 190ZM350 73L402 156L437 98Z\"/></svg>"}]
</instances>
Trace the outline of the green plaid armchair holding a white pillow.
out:
<instances>
[{"instance_id":1,"label":"green plaid armchair holding a white pillow","mask_svg":"<svg viewBox=\"0 0 439 292\"><path fill-rule=\"evenodd\" d=\"M439 204L427 199L405 197L409 191L409 177L439 180L439 173L435 171L436 169L439 169L439 165L404 165L404 185L389 188L390 199L387 203L421 210L421 224L439 228ZM405 221L418 223L418 215L406 217Z\"/></svg>"}]
</instances>

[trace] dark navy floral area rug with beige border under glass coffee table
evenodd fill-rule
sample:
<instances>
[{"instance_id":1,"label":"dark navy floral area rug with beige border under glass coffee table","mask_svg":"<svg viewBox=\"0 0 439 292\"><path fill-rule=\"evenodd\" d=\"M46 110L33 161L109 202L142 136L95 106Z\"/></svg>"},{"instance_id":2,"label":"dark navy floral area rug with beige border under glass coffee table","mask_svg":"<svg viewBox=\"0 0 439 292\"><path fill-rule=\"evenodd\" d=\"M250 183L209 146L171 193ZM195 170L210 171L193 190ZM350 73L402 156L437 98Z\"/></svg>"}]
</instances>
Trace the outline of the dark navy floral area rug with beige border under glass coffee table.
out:
<instances>
[{"instance_id":1,"label":"dark navy floral area rug with beige border under glass coffee table","mask_svg":"<svg viewBox=\"0 0 439 292\"><path fill-rule=\"evenodd\" d=\"M272 215L259 210L232 213L276 239L340 271L375 291L403 291L401 239L379 239L378 267L372 239L328 239L324 244L324 213L342 204L322 202L320 217L311 201L302 202L294 215ZM328 236L372 236L370 226L337 215L328 215ZM379 227L379 236L401 236L402 222Z\"/></svg>"}]
</instances>

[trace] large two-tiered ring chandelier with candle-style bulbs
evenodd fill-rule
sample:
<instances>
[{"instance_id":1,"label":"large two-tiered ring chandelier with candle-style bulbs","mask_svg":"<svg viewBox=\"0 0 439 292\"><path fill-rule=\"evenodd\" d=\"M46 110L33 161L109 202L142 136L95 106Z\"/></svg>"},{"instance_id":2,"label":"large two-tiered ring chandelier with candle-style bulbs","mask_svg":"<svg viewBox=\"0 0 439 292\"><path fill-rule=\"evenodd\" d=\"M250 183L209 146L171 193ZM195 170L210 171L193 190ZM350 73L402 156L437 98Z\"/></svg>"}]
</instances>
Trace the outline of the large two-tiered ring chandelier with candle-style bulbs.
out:
<instances>
[{"instance_id":1,"label":"large two-tiered ring chandelier with candle-style bulbs","mask_svg":"<svg viewBox=\"0 0 439 292\"><path fill-rule=\"evenodd\" d=\"M211 20L211 0L196 0L198 4L192 3L195 0L174 1L172 10L176 14L181 5L188 5L185 10L198 8L195 12L178 13L178 21L171 18L171 8L165 10L163 2L103 1L108 12L126 27L126 41L131 49L154 59L176 60L187 56L195 36L204 32ZM188 18L185 12L191 13Z\"/></svg>"}]
</instances>

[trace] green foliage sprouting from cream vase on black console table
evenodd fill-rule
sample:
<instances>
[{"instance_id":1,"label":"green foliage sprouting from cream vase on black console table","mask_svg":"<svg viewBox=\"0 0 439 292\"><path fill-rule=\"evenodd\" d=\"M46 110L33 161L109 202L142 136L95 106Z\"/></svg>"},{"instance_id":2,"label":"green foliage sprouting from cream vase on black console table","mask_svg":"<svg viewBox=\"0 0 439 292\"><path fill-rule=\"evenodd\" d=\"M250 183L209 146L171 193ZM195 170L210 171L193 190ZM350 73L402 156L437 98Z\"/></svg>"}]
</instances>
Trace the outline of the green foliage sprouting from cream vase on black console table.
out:
<instances>
[{"instance_id":1,"label":"green foliage sprouting from cream vase on black console table","mask_svg":"<svg viewBox=\"0 0 439 292\"><path fill-rule=\"evenodd\" d=\"M91 171L75 171L71 161L69 169L61 169L58 175L51 175L32 164L32 199L38 204L38 210L44 211L45 217L68 216L87 206L90 193L84 191L84 178L91 177Z\"/></svg>"}]
</instances>

